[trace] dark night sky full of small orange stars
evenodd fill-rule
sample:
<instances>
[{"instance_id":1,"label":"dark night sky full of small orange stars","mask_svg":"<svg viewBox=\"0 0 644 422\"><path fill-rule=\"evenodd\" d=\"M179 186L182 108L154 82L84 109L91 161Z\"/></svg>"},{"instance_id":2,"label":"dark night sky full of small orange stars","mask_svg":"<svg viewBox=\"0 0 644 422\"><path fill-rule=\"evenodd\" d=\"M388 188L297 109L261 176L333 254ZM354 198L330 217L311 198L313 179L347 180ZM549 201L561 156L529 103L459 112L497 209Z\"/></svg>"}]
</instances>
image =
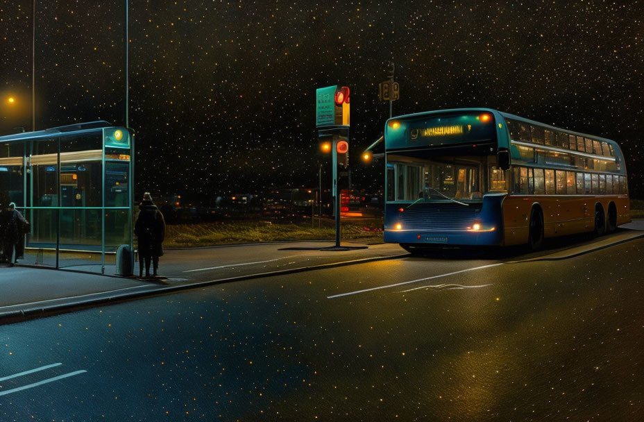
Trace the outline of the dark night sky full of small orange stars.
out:
<instances>
[{"instance_id":1,"label":"dark night sky full of small orange stars","mask_svg":"<svg viewBox=\"0 0 644 422\"><path fill-rule=\"evenodd\" d=\"M351 88L352 153L394 115L490 107L616 140L644 196L640 1L130 1L137 189L316 186L315 90ZM124 122L124 1L37 1L36 128ZM31 128L31 1L0 1L0 134ZM19 100L6 103L6 96ZM351 158L358 187L382 165ZM382 164L382 162L378 163Z\"/></svg>"}]
</instances>

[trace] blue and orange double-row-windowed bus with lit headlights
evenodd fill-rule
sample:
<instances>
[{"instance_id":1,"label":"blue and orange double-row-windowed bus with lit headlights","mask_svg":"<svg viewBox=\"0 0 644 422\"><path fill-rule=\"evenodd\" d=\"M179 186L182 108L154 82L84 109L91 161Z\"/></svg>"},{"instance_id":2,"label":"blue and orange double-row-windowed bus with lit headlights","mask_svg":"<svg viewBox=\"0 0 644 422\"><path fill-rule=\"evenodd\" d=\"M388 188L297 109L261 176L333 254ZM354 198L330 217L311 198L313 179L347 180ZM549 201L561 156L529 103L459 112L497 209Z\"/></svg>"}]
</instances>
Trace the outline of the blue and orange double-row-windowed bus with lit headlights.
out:
<instances>
[{"instance_id":1,"label":"blue and orange double-row-windowed bus with lit headlights","mask_svg":"<svg viewBox=\"0 0 644 422\"><path fill-rule=\"evenodd\" d=\"M387 120L384 241L538 249L631 221L618 144L489 108Z\"/></svg>"}]
</instances>

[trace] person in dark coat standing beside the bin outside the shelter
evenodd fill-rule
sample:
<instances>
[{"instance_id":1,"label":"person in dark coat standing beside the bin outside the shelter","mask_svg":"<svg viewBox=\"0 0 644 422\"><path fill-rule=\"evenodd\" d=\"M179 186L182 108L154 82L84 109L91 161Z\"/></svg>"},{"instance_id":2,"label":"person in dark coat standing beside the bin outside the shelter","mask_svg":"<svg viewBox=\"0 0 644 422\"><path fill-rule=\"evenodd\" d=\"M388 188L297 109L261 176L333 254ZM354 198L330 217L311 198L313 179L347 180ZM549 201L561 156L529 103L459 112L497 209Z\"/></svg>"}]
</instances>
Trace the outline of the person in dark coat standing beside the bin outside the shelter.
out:
<instances>
[{"instance_id":1,"label":"person in dark coat standing beside the bin outside the shelter","mask_svg":"<svg viewBox=\"0 0 644 422\"><path fill-rule=\"evenodd\" d=\"M150 260L153 265L153 276L157 276L159 257L163 256L163 239L165 237L165 220L159 208L152 202L149 192L143 195L139 204L139 217L134 226L139 248L139 277L143 276L145 262L145 276L150 277Z\"/></svg>"}]
</instances>

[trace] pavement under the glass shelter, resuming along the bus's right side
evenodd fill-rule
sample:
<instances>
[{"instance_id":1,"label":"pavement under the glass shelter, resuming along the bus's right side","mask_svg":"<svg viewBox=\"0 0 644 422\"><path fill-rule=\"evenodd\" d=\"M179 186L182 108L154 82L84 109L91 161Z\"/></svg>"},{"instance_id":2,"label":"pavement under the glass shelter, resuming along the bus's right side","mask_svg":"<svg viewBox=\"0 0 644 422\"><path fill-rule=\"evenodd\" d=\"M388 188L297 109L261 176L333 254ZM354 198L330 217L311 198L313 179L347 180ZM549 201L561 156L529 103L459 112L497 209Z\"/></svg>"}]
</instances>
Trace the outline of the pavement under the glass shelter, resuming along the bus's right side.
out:
<instances>
[{"instance_id":1,"label":"pavement under the glass shelter, resuming along the bus's right side","mask_svg":"<svg viewBox=\"0 0 644 422\"><path fill-rule=\"evenodd\" d=\"M644 220L620 226L616 233L599 239L564 242L555 239L547 258L544 253L522 255L522 260L557 260L627 242L644 236ZM271 242L187 248L166 251L160 262L158 278L119 277L115 266L107 262L104 275L101 263L92 256L88 262L69 259L64 270L18 264L0 268L0 324L39 316L68 312L92 305L130 298L176 292L198 286L250 280L269 276L339 267L376 260L401 258L408 254L397 244L354 246L348 251L321 250L333 242ZM512 248L515 251L516 248ZM509 258L511 260L512 253ZM507 254L507 252L506 252ZM24 262L31 263L31 255ZM446 258L454 258L446 257ZM47 261L47 258L45 258ZM112 259L113 261L113 259ZM138 264L135 272L138 271Z\"/></svg>"}]
</instances>

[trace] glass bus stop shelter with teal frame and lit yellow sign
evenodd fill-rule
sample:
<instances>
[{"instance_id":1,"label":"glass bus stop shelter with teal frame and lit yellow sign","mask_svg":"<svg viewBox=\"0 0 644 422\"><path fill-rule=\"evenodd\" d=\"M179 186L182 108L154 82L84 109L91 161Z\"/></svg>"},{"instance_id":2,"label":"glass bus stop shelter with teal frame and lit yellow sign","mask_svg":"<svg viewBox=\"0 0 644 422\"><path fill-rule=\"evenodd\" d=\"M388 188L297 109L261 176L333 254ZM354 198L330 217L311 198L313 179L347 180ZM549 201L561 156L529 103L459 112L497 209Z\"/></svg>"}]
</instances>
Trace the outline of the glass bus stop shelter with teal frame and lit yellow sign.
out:
<instances>
[{"instance_id":1,"label":"glass bus stop shelter with teal frame and lit yellow sign","mask_svg":"<svg viewBox=\"0 0 644 422\"><path fill-rule=\"evenodd\" d=\"M129 275L133 155L107 121L0 137L0 204L30 223L24 264Z\"/></svg>"}]
</instances>

